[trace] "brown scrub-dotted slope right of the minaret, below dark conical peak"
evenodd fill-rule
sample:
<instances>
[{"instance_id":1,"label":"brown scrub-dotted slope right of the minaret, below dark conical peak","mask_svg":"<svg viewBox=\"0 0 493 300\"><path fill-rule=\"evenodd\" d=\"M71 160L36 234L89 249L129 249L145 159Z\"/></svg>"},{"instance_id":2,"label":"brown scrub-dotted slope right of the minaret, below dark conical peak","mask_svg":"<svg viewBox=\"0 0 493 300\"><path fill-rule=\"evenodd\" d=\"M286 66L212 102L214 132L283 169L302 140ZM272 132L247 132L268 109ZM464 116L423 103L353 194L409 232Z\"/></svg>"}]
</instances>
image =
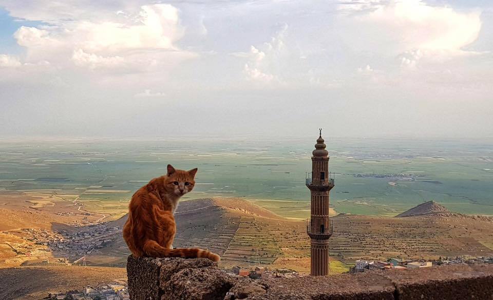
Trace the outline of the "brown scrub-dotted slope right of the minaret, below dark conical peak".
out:
<instances>
[{"instance_id":1,"label":"brown scrub-dotted slope right of the minaret, below dark conical peak","mask_svg":"<svg viewBox=\"0 0 493 300\"><path fill-rule=\"evenodd\" d=\"M453 213L405 218L339 215L330 253L343 261L493 255L493 218Z\"/></svg>"}]
</instances>

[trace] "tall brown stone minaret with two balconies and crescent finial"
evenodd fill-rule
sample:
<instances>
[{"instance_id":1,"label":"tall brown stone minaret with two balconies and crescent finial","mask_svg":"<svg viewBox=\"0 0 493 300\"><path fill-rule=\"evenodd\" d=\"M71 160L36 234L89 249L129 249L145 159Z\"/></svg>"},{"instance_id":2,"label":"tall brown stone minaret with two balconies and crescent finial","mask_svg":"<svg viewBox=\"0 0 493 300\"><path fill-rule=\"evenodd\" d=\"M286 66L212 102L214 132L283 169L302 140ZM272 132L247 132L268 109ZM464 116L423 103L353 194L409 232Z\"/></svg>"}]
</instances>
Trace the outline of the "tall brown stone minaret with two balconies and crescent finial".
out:
<instances>
[{"instance_id":1,"label":"tall brown stone minaret with two balconies and crescent finial","mask_svg":"<svg viewBox=\"0 0 493 300\"><path fill-rule=\"evenodd\" d=\"M329 152L325 149L322 128L312 152L312 172L307 173L306 183L310 189L311 217L307 220L307 233L311 245L311 275L329 274L329 238L332 220L329 218L329 192L334 178L329 173Z\"/></svg>"}]
</instances>

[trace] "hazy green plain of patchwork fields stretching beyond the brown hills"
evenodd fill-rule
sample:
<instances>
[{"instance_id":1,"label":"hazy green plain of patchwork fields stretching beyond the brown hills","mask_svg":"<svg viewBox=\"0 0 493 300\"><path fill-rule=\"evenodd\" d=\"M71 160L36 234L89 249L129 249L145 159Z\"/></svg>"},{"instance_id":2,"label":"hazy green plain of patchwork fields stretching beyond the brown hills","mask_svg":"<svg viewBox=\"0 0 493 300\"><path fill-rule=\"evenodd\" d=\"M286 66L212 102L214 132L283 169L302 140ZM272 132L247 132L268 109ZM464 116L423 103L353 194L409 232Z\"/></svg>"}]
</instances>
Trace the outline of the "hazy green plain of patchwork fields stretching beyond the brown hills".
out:
<instances>
[{"instance_id":1,"label":"hazy green plain of patchwork fields stretching beyond the brown hills","mask_svg":"<svg viewBox=\"0 0 493 300\"><path fill-rule=\"evenodd\" d=\"M1 141L0 189L79 195L86 208L120 214L166 165L198 167L188 198L236 196L305 217L315 139ZM493 215L493 141L330 139L336 212L393 216L423 201ZM273 201L275 200L275 201Z\"/></svg>"}]
</instances>

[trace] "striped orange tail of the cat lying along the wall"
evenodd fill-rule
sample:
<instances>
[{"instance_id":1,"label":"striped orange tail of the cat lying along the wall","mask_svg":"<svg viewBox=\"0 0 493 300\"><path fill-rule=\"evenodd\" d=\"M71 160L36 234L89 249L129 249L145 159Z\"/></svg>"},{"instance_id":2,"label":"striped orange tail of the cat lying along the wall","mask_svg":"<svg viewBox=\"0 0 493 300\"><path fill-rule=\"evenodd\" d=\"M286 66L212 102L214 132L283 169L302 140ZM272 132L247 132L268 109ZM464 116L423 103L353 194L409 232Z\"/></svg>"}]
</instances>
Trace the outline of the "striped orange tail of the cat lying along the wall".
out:
<instances>
[{"instance_id":1,"label":"striped orange tail of the cat lying along the wall","mask_svg":"<svg viewBox=\"0 0 493 300\"><path fill-rule=\"evenodd\" d=\"M167 249L159 245L155 240L148 240L144 244L144 253L153 257L205 257L212 261L219 261L221 257L211 251L199 248Z\"/></svg>"}]
</instances>

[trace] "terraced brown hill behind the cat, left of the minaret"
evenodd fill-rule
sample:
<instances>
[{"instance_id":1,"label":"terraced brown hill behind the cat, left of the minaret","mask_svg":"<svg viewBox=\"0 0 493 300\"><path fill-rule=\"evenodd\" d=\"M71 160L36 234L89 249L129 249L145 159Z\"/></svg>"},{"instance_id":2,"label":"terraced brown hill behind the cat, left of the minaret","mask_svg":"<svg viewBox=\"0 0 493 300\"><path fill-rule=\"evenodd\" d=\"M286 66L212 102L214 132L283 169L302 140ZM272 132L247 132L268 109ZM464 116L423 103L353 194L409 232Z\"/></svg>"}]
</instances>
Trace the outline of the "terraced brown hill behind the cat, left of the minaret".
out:
<instances>
[{"instance_id":1,"label":"terraced brown hill behind the cat, left of the minaret","mask_svg":"<svg viewBox=\"0 0 493 300\"><path fill-rule=\"evenodd\" d=\"M122 227L127 216L108 223ZM199 247L221 255L221 264L259 261L272 264L283 255L276 242L278 233L304 228L242 198L214 197L182 201L175 213L177 233L174 247ZM283 229L282 229L283 228ZM305 235L302 236L305 238ZM99 254L88 255L92 264L124 263L129 254L121 234ZM118 260L114 258L118 257Z\"/></svg>"}]
</instances>

